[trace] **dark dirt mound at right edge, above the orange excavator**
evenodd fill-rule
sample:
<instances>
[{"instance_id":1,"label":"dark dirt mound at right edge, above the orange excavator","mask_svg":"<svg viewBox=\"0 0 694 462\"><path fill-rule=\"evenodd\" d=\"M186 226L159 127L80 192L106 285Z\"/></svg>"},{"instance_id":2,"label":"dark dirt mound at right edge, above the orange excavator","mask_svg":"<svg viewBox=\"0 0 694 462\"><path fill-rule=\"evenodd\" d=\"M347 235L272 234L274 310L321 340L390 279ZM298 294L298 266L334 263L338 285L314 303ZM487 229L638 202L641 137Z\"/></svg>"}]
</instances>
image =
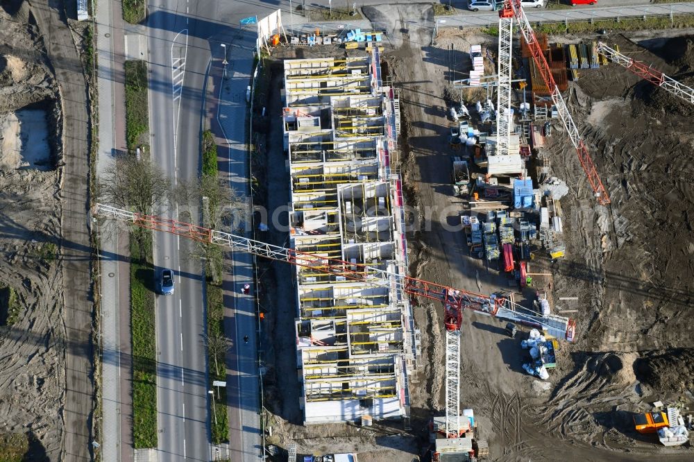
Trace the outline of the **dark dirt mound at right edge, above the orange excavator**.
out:
<instances>
[{"instance_id":1,"label":"dark dirt mound at right edge, above the orange excavator","mask_svg":"<svg viewBox=\"0 0 694 462\"><path fill-rule=\"evenodd\" d=\"M636 377L657 391L682 392L694 388L694 348L650 352L634 363Z\"/></svg>"}]
</instances>

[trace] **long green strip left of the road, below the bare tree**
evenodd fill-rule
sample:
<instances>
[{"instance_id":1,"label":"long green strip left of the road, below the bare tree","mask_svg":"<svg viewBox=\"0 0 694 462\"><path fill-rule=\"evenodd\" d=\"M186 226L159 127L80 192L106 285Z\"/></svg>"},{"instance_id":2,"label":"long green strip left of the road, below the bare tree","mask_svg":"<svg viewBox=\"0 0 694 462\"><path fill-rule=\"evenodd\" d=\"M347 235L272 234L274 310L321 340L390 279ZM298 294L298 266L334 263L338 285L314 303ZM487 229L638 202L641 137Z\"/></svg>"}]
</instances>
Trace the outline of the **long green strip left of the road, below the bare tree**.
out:
<instances>
[{"instance_id":1,"label":"long green strip left of the road, below the bare tree","mask_svg":"<svg viewBox=\"0 0 694 462\"><path fill-rule=\"evenodd\" d=\"M157 377L152 232L130 232L130 325L133 335L135 448L157 447Z\"/></svg>"}]
</instances>

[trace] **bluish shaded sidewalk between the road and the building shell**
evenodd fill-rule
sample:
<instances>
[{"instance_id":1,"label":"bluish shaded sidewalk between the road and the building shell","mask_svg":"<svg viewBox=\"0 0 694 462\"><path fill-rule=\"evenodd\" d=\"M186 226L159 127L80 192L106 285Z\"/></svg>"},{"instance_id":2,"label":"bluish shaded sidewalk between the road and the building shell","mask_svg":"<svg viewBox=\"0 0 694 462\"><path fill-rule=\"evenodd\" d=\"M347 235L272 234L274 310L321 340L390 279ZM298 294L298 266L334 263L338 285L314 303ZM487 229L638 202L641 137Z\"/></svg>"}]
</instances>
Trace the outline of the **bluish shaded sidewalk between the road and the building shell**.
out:
<instances>
[{"instance_id":1,"label":"bluish shaded sidewalk between the road and the building shell","mask_svg":"<svg viewBox=\"0 0 694 462\"><path fill-rule=\"evenodd\" d=\"M208 80L206 117L219 150L219 173L242 197L248 197L248 151L246 149L246 87L250 83L255 40L249 33L228 47L228 65L223 78L223 49L212 49ZM228 146L228 148L224 148ZM250 198L248 198L250 201ZM244 233L243 230L237 234ZM247 237L252 233L246 231ZM240 293L244 284L253 286L253 256L228 253L232 271L224 273L224 330L232 341L227 354L227 403L232 461L257 461L262 453L260 435L260 390L257 370L257 315L253 296ZM248 335L248 343L242 339Z\"/></svg>"}]
</instances>

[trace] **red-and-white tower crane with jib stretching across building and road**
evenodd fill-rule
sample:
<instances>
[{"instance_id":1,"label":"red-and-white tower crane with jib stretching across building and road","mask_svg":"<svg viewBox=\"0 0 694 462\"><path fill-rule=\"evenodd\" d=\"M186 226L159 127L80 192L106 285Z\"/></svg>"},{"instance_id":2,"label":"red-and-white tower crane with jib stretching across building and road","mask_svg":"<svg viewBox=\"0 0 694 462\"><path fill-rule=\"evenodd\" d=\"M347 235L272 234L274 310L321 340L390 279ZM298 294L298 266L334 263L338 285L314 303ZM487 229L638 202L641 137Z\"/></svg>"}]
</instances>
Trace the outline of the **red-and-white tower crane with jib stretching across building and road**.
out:
<instances>
[{"instance_id":1,"label":"red-and-white tower crane with jib stretching across building and road","mask_svg":"<svg viewBox=\"0 0 694 462\"><path fill-rule=\"evenodd\" d=\"M481 293L416 279L402 273L385 271L375 265L344 262L340 259L274 246L182 221L165 219L155 215L137 214L110 205L96 204L92 210L92 215L123 221L140 228L169 232L194 241L213 243L231 250L248 252L258 257L303 266L312 271L330 275L335 280L337 277L344 277L364 284L396 289L396 291L407 293L410 296L419 296L441 302L444 308L443 323L446 327L446 436L448 438L459 437L460 429L460 325L464 309L472 309L480 314L539 327L558 339L573 341L575 337L576 325L573 320L551 314L539 316L534 311L516 304L505 296L485 296Z\"/></svg>"}]
</instances>

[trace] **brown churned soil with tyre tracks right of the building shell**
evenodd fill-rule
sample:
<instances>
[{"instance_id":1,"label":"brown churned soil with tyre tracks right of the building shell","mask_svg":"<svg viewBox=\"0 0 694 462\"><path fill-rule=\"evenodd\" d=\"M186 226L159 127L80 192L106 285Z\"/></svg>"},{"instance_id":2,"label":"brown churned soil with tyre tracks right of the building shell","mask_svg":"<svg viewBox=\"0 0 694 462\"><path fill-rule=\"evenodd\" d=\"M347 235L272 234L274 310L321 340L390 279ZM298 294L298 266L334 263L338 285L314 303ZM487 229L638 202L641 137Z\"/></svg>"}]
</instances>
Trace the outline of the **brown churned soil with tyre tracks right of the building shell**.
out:
<instances>
[{"instance_id":1,"label":"brown churned soil with tyre tracks right of the building shell","mask_svg":"<svg viewBox=\"0 0 694 462\"><path fill-rule=\"evenodd\" d=\"M496 39L470 29L443 30L429 46L428 37L407 35L384 60L400 88L406 201L415 214L431 216L408 237L411 273L482 293L508 290L498 268L469 257L462 233L451 230L462 204L447 186L454 151L447 143L446 106L456 96L449 67L455 61L455 75L464 74L471 66L469 46L482 44L496 52ZM634 58L662 65L683 81L694 65L686 37L660 39L660 49L670 55L654 54L623 37L609 40L619 41L623 50L633 46ZM555 312L575 318L579 334L575 343L561 344L558 366L543 383L523 373L522 353L517 341L505 336L503 323L466 313L461 404L475 409L480 437L489 440L493 460L694 457L691 448L663 447L637 434L632 422L632 413L652 409L659 399L689 409L694 402L687 366L691 357L682 350L691 346L687 320L693 314L694 122L684 115L690 110L686 104L662 92L613 66L581 71L570 85L568 104L612 203L596 205L575 150L559 123L553 123L555 135L546 151L552 174L570 188L562 200L568 252L555 263L539 257L531 271L550 273L534 282L549 289ZM516 296L527 300L532 292ZM412 427L423 430L432 413L443 411L441 307L420 305L415 316L423 332L423 358L411 389Z\"/></svg>"}]
</instances>

